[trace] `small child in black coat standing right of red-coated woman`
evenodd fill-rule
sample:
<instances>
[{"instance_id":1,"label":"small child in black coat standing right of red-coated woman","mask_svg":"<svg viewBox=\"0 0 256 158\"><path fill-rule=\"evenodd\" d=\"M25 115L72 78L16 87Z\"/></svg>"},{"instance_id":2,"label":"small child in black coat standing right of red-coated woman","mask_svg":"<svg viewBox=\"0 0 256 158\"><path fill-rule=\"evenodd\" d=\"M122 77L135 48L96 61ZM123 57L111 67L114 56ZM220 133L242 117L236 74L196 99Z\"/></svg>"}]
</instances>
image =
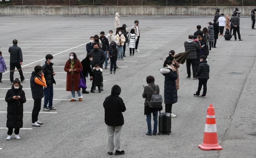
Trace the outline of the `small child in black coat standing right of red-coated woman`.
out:
<instances>
[{"instance_id":1,"label":"small child in black coat standing right of red-coated woman","mask_svg":"<svg viewBox=\"0 0 256 158\"><path fill-rule=\"evenodd\" d=\"M100 68L100 65L95 65L92 69L93 73L93 79L92 79L92 88L91 88L91 93L94 93L94 87L98 87L99 93L100 91L100 83L103 82L103 76L102 76L103 69Z\"/></svg>"}]
</instances>

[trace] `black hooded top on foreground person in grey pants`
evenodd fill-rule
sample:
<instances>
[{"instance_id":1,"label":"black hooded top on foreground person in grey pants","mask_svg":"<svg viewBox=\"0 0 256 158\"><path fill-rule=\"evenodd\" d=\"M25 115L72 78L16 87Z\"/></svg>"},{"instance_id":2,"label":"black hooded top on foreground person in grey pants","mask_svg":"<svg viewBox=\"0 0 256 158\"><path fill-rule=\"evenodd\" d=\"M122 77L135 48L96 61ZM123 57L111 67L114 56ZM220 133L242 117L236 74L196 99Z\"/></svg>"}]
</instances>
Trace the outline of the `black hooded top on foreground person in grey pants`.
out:
<instances>
[{"instance_id":1,"label":"black hooded top on foreground person in grey pants","mask_svg":"<svg viewBox=\"0 0 256 158\"><path fill-rule=\"evenodd\" d=\"M103 107L105 109L105 123L108 126L122 126L124 124L123 112L126 111L124 101L119 97L121 88L114 85L111 95L106 97Z\"/></svg>"}]
</instances>

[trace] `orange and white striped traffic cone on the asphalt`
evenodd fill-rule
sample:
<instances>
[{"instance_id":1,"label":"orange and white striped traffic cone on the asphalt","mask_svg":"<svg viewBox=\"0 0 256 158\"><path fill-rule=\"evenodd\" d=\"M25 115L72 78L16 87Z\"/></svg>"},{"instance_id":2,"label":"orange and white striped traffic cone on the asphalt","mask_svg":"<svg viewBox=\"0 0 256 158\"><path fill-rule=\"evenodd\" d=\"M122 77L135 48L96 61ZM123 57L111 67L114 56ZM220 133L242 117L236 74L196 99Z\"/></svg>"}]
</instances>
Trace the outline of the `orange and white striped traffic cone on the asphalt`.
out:
<instances>
[{"instance_id":1,"label":"orange and white striped traffic cone on the asphalt","mask_svg":"<svg viewBox=\"0 0 256 158\"><path fill-rule=\"evenodd\" d=\"M202 150L221 150L222 146L218 143L217 128L214 107L212 104L207 109L207 116L204 128L203 143L198 145Z\"/></svg>"}]
</instances>

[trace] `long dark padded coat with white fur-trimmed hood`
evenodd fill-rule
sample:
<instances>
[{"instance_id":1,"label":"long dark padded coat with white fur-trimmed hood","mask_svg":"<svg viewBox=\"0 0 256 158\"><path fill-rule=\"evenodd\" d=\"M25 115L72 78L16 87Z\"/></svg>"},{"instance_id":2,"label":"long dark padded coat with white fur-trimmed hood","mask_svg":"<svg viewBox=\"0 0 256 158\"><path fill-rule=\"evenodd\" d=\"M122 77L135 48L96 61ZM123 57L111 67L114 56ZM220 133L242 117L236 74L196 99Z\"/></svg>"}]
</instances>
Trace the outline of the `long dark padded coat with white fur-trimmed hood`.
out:
<instances>
[{"instance_id":1,"label":"long dark padded coat with white fur-trimmed hood","mask_svg":"<svg viewBox=\"0 0 256 158\"><path fill-rule=\"evenodd\" d=\"M174 104L178 101L176 89L177 72L163 67L160 69L160 73L164 75L164 103Z\"/></svg>"}]
</instances>

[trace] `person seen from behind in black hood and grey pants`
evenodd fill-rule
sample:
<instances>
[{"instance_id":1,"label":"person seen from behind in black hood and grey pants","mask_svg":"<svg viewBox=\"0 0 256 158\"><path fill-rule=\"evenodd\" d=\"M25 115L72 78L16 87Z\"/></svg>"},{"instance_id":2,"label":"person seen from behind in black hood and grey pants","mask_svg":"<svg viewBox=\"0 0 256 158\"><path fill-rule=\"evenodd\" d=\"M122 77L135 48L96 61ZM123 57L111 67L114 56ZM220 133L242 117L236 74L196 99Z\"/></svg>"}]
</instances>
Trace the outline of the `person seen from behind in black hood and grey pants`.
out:
<instances>
[{"instance_id":1,"label":"person seen from behind in black hood and grey pants","mask_svg":"<svg viewBox=\"0 0 256 158\"><path fill-rule=\"evenodd\" d=\"M111 89L111 95L106 97L103 103L105 109L105 123L108 128L108 155L113 154L115 145L115 155L124 154L124 150L122 150L121 147L121 130L124 125L122 113L126 111L126 107L123 99L119 97L120 93L121 88L118 85L114 85ZM116 144L114 144L114 139Z\"/></svg>"}]
</instances>

